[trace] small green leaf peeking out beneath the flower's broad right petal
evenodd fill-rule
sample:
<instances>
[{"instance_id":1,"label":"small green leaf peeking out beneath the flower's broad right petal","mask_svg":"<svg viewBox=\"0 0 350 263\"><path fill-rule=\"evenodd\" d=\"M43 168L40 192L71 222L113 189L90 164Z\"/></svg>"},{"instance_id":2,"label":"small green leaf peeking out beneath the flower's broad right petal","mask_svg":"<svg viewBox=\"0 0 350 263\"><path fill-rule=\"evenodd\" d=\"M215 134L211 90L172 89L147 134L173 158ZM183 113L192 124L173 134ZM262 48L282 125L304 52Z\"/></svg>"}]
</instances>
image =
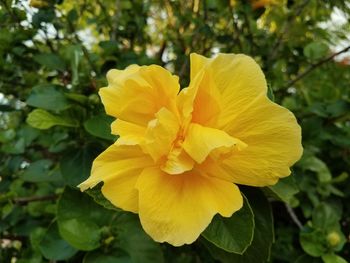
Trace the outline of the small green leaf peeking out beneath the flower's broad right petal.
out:
<instances>
[{"instance_id":1,"label":"small green leaf peeking out beneath the flower's broad right petal","mask_svg":"<svg viewBox=\"0 0 350 263\"><path fill-rule=\"evenodd\" d=\"M292 175L282 178L277 184L268 187L281 201L290 203L294 195L299 192Z\"/></svg>"}]
</instances>

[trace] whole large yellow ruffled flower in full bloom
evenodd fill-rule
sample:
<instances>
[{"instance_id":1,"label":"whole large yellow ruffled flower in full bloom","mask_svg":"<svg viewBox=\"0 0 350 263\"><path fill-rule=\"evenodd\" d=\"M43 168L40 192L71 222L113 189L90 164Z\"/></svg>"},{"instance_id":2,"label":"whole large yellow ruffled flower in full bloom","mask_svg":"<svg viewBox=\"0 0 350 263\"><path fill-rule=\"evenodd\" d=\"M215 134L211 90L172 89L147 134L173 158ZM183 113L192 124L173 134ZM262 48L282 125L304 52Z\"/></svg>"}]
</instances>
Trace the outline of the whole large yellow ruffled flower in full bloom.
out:
<instances>
[{"instance_id":1,"label":"whole large yellow ruffled flower in full bloom","mask_svg":"<svg viewBox=\"0 0 350 263\"><path fill-rule=\"evenodd\" d=\"M237 184L267 186L302 154L294 115L271 102L257 63L245 55L191 55L191 81L160 66L107 74L99 94L120 138L93 163L82 191L103 181L115 206L174 246L194 242L217 213L242 207Z\"/></svg>"}]
</instances>

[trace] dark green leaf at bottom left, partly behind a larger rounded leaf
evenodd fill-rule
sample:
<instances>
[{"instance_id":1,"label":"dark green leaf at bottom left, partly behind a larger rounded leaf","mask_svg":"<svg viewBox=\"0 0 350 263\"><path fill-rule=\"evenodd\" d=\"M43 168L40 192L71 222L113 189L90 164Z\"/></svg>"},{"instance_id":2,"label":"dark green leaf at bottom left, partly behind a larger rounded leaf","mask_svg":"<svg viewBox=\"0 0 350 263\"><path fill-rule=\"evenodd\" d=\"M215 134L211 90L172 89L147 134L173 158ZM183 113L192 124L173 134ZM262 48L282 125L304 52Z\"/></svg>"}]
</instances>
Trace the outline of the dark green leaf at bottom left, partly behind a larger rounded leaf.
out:
<instances>
[{"instance_id":1,"label":"dark green leaf at bottom left, partly behind a larger rounded leaf","mask_svg":"<svg viewBox=\"0 0 350 263\"><path fill-rule=\"evenodd\" d=\"M43 256L50 260L65 260L77 252L75 248L60 237L56 224L49 227L40 242L39 248Z\"/></svg>"}]
</instances>

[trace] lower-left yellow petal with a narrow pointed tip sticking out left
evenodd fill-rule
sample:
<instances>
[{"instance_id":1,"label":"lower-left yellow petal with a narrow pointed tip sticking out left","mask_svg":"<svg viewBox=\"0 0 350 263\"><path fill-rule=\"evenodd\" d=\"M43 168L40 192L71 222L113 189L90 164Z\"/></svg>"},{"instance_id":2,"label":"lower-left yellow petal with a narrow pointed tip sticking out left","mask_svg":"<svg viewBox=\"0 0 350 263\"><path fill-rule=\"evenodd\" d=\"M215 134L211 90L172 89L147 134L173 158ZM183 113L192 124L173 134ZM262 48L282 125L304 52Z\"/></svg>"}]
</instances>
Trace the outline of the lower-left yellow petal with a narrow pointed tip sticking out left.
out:
<instances>
[{"instance_id":1,"label":"lower-left yellow petal with a narrow pointed tip sticking out left","mask_svg":"<svg viewBox=\"0 0 350 263\"><path fill-rule=\"evenodd\" d=\"M115 206L137 212L135 184L145 167L154 165L138 146L112 145L93 162L90 177L78 187L81 191L104 182L103 195Z\"/></svg>"}]
</instances>

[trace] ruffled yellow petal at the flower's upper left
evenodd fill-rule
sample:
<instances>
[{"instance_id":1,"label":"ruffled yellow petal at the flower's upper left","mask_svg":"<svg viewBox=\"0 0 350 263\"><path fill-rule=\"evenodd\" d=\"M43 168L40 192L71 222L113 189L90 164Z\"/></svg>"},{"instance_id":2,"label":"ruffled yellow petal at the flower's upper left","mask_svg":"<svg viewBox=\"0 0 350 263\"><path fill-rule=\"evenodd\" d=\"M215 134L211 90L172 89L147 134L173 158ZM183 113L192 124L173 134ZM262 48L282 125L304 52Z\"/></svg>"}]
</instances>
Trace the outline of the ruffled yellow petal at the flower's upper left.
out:
<instances>
[{"instance_id":1,"label":"ruffled yellow petal at the flower's upper left","mask_svg":"<svg viewBox=\"0 0 350 263\"><path fill-rule=\"evenodd\" d=\"M162 107L176 111L178 77L160 66L111 70L107 79L108 87L101 88L99 94L109 115L145 126Z\"/></svg>"}]
</instances>

